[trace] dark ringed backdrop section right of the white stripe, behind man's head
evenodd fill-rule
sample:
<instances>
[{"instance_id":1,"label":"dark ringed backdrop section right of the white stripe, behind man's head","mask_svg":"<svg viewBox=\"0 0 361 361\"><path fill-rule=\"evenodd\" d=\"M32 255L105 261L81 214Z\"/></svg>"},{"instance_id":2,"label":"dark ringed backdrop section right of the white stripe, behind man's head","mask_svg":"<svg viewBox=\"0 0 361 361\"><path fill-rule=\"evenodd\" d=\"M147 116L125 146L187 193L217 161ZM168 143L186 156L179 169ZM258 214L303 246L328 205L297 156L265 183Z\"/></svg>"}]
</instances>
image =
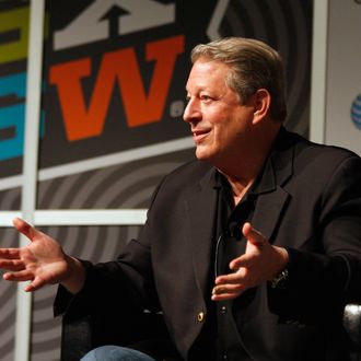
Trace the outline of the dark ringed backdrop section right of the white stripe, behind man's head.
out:
<instances>
[{"instance_id":1,"label":"dark ringed backdrop section right of the white stripe, behind man's head","mask_svg":"<svg viewBox=\"0 0 361 361\"><path fill-rule=\"evenodd\" d=\"M308 135L312 1L231 0L221 23L222 36L254 37L283 58L289 129Z\"/></svg>"}]
</instances>

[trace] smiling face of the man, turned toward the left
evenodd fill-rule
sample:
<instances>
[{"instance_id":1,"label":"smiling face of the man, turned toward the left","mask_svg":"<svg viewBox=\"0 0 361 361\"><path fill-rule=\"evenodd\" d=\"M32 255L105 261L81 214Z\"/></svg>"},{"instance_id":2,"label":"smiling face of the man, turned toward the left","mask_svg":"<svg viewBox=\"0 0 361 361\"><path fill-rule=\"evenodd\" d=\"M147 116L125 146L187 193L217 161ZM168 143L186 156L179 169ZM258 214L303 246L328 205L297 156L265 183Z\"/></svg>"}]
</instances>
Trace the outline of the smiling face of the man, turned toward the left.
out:
<instances>
[{"instance_id":1,"label":"smiling face of the man, turned toward the left","mask_svg":"<svg viewBox=\"0 0 361 361\"><path fill-rule=\"evenodd\" d=\"M229 72L228 65L200 58L186 84L188 104L183 118L190 125L196 156L214 165L240 158L253 120L254 107L241 104L238 95L226 86Z\"/></svg>"}]
</instances>

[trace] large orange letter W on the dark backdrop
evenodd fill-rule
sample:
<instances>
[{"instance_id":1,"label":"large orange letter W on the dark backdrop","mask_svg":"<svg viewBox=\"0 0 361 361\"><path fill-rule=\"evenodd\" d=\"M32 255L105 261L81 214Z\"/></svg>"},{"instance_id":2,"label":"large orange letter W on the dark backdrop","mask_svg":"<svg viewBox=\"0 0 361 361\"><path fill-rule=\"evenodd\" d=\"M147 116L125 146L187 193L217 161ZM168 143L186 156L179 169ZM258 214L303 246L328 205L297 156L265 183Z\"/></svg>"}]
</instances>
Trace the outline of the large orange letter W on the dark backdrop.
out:
<instances>
[{"instance_id":1,"label":"large orange letter W on the dark backdrop","mask_svg":"<svg viewBox=\"0 0 361 361\"><path fill-rule=\"evenodd\" d=\"M83 58L50 68L50 83L57 86L68 140L102 133L116 81L119 85L127 124L138 127L162 119L175 60L184 51L184 36L147 44L147 61L154 61L148 94L143 86L133 48L104 55L93 93L86 107L81 79L91 74L91 59Z\"/></svg>"}]
</instances>

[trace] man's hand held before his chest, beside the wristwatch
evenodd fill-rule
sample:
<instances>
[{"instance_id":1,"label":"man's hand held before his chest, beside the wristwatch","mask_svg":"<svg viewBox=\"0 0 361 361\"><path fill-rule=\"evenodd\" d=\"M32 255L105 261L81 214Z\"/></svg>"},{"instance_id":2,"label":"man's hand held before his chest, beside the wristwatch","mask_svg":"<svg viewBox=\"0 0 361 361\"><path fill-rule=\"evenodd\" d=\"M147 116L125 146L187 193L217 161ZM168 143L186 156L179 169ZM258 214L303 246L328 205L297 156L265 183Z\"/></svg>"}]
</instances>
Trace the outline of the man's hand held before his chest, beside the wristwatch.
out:
<instances>
[{"instance_id":1,"label":"man's hand held before his chest, beside the wristwatch","mask_svg":"<svg viewBox=\"0 0 361 361\"><path fill-rule=\"evenodd\" d=\"M235 299L245 290L273 279L289 260L284 248L269 244L251 223L243 225L242 233L247 240L246 252L230 263L232 273L216 278L213 301Z\"/></svg>"}]
</instances>

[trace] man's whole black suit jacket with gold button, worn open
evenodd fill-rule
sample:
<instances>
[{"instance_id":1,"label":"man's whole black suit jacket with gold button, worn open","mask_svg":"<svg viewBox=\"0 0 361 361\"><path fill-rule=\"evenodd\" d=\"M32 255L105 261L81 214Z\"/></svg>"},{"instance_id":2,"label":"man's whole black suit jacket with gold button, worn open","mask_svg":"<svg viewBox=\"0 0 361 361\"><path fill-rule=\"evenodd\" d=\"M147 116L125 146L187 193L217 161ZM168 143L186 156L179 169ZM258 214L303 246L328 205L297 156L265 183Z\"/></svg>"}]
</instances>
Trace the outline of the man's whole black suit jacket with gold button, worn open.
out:
<instances>
[{"instance_id":1,"label":"man's whole black suit jacket with gold button, worn open","mask_svg":"<svg viewBox=\"0 0 361 361\"><path fill-rule=\"evenodd\" d=\"M361 300L361 160L281 129L265 166L272 176L252 223L288 248L289 280L286 289L265 282L248 291L242 343L257 361L347 360L342 308ZM113 299L129 313L161 311L182 358L202 360L209 348L199 343L213 272L214 172L195 161L166 176L139 240L116 261L88 265L72 307L93 312Z\"/></svg>"}]
</instances>

